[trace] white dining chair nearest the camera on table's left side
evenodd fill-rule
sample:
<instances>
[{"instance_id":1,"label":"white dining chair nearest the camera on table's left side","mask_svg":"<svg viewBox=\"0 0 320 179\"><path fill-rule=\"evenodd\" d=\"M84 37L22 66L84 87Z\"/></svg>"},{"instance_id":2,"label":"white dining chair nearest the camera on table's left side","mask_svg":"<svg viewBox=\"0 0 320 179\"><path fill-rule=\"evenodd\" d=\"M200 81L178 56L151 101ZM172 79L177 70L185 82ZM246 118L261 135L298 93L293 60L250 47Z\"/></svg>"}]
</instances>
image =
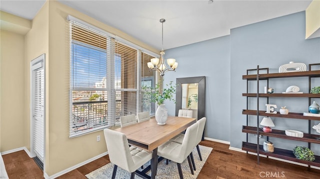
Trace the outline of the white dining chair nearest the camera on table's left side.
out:
<instances>
[{"instance_id":1,"label":"white dining chair nearest the camera on table's left side","mask_svg":"<svg viewBox=\"0 0 320 179\"><path fill-rule=\"evenodd\" d=\"M114 165L112 177L115 178L117 167L131 173L130 179L139 173L137 169L152 158L152 152L141 150L132 154L126 136L120 132L104 129L104 138L110 162Z\"/></svg>"}]
</instances>

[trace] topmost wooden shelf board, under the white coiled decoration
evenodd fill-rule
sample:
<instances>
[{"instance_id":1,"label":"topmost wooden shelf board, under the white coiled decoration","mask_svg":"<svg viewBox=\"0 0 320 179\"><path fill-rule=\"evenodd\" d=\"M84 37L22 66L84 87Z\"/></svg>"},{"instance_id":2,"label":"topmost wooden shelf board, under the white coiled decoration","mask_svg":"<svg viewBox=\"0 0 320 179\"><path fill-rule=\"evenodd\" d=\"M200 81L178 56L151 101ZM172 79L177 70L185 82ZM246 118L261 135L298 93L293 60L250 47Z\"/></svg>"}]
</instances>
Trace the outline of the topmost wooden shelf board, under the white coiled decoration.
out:
<instances>
[{"instance_id":1,"label":"topmost wooden shelf board, under the white coiled decoration","mask_svg":"<svg viewBox=\"0 0 320 179\"><path fill-rule=\"evenodd\" d=\"M303 76L320 77L320 70L259 74L259 80L265 80L265 79L269 79L269 78L288 78L288 77L303 77ZM256 80L256 74L242 75L242 79Z\"/></svg>"}]
</instances>

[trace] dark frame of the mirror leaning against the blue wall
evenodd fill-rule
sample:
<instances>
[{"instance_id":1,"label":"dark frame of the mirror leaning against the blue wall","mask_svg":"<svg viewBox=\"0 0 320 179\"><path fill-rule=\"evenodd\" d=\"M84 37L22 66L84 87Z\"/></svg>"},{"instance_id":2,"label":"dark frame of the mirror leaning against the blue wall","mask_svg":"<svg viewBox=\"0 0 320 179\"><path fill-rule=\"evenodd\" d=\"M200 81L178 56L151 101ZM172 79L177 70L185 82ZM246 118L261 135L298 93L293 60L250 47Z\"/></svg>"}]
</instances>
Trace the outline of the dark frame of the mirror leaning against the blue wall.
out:
<instances>
[{"instance_id":1,"label":"dark frame of the mirror leaning against the blue wall","mask_svg":"<svg viewBox=\"0 0 320 179\"><path fill-rule=\"evenodd\" d=\"M182 85L189 83L198 83L198 115L197 120L204 117L205 112L205 76L176 78L175 90L175 116L178 116L179 109L181 109L182 100Z\"/></svg>"}]
</instances>

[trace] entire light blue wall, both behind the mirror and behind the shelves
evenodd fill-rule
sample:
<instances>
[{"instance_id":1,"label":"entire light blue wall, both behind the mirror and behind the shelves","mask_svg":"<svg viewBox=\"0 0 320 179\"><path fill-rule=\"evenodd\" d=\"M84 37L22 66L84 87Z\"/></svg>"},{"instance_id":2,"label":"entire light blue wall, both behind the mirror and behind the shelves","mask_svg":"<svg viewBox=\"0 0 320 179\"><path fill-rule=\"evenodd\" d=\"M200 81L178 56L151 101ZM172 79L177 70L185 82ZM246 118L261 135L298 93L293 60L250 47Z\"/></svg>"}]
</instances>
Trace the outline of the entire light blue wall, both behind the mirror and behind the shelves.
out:
<instances>
[{"instance_id":1,"label":"entire light blue wall, both behind the mirror and behind the shelves","mask_svg":"<svg viewBox=\"0 0 320 179\"><path fill-rule=\"evenodd\" d=\"M241 148L245 134L241 132L246 116L246 81L242 75L246 69L268 67L276 73L282 64L289 61L320 63L320 38L304 39L305 12L298 12L250 25L233 28L230 35L206 40L165 51L165 58L176 58L179 66L176 72L167 72L164 83L175 78L206 76L205 137L229 141L230 146ZM300 91L307 93L307 78L272 79L270 87L276 93L285 91L288 86L297 85ZM251 82L250 91L256 92L255 83ZM261 90L263 91L263 82ZM313 80L312 86L320 86L320 80ZM254 91L255 90L255 91ZM320 99L314 99L320 104ZM255 99L250 99L250 108L256 106ZM165 103L169 115L174 115L174 104ZM260 110L265 110L266 101L260 101ZM291 112L306 112L307 98L270 98L269 104L287 106ZM252 118L252 119L251 119ZM261 117L262 118L262 117ZM261 120L260 118L260 120ZM297 119L272 118L274 129L293 129L307 132L307 121ZM256 117L250 117L250 125L255 125ZM311 125L318 124L314 121ZM312 133L315 133L312 131ZM249 140L255 141L253 136ZM306 146L290 140L270 138L275 147L293 149L295 145ZM263 140L261 140L263 142ZM315 152L319 155L319 146ZM315 147L312 147L315 148Z\"/></svg>"}]
</instances>

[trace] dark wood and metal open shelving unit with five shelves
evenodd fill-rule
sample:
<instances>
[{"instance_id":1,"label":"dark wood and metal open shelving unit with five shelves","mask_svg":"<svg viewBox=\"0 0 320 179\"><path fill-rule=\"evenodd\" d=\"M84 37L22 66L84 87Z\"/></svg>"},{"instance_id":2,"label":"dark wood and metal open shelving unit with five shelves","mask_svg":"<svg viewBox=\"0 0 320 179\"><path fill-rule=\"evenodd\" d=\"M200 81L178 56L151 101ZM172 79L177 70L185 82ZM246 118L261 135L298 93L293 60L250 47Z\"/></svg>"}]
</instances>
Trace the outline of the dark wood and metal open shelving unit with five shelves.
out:
<instances>
[{"instance_id":1,"label":"dark wood and metal open shelving unit with five shelves","mask_svg":"<svg viewBox=\"0 0 320 179\"><path fill-rule=\"evenodd\" d=\"M246 97L246 109L242 110L242 114L246 115L246 126L242 126L242 132L246 133L246 142L242 142L242 150L247 152L252 152L257 154L257 163L259 164L259 154L265 155L267 157L275 157L279 159L284 159L292 162L297 162L301 164L306 164L309 167L315 166L320 167L320 156L315 156L315 161L303 161L296 159L290 150L284 150L279 148L274 148L273 153L267 153L263 151L263 146L259 145L259 138L257 137L256 143L249 143L248 142L248 134L255 134L257 136L266 136L268 137L275 137L281 138L286 140L294 141L301 141L308 143L308 147L310 148L311 144L320 144L320 135L310 134L310 121L320 121L320 117L313 117L313 116L303 116L303 113L294 113L290 112L287 115L279 114L279 112L273 113L265 113L266 111L261 111L259 109L259 98L266 98L266 102L268 104L270 97L284 97L284 98L308 98L309 105L311 104L311 98L320 98L320 94L310 94L310 93L272 93L272 94L265 94L265 93L258 93L259 91L259 82L260 80L266 80L267 88L269 84L269 79L272 78L290 78L290 77L308 77L308 91L311 89L311 78L320 77L320 70L313 70L311 71L311 67L314 65L320 65L320 63L316 64L309 64L309 71L302 71L302 72L286 72L286 73L269 73L268 68L259 68L257 66L256 69L248 69L246 70L246 75L242 75L242 79L246 80L246 93L242 93L243 97ZM256 71L256 74L249 74L252 71ZM265 73L260 74L260 71L265 71ZM249 81L255 80L256 81L256 90L257 93L249 93ZM256 109L248 109L249 98L256 98ZM249 115L256 116L256 126L248 126ZM272 129L272 132L265 133L260 129L259 126L259 116L268 116L268 117L276 117L276 118L290 118L290 119L301 119L301 120L308 120L308 133L304 133L302 138L298 137L291 137L286 136L285 131L282 130L275 130Z\"/></svg>"}]
</instances>

